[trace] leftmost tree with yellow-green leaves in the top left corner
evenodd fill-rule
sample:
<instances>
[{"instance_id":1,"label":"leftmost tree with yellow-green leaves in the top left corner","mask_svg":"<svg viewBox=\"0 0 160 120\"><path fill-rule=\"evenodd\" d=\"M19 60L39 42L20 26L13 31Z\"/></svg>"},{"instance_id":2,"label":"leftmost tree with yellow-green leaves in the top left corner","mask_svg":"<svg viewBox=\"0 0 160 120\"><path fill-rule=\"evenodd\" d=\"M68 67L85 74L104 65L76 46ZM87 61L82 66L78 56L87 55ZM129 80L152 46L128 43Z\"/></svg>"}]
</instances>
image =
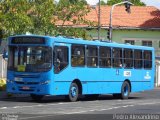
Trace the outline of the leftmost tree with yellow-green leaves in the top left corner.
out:
<instances>
[{"instance_id":1,"label":"leftmost tree with yellow-green leaves in the top left corner","mask_svg":"<svg viewBox=\"0 0 160 120\"><path fill-rule=\"evenodd\" d=\"M0 2L0 31L2 37L23 34L32 27L32 21L27 16L30 5L26 0L3 0Z\"/></svg>"}]
</instances>

